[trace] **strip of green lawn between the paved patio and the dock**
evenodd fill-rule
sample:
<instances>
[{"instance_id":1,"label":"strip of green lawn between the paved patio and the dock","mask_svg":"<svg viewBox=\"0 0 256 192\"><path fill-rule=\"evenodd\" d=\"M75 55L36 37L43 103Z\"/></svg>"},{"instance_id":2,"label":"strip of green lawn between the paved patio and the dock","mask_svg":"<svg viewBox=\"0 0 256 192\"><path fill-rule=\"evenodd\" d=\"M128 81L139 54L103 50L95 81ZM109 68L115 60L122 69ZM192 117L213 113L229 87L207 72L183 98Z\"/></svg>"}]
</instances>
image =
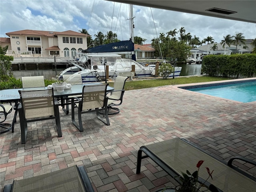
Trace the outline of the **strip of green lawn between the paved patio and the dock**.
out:
<instances>
[{"instance_id":1,"label":"strip of green lawn between the paved patio and the dock","mask_svg":"<svg viewBox=\"0 0 256 192\"><path fill-rule=\"evenodd\" d=\"M164 85L178 85L178 84L188 84L188 83L198 83L198 82L210 82L210 81L220 81L229 80L234 78L222 78L222 77L209 77L209 76L192 76L192 77L178 77L169 79L146 79L146 80L133 80L126 81L124 90L134 90L143 89ZM114 86L114 82L109 83L110 86Z\"/></svg>"}]
</instances>

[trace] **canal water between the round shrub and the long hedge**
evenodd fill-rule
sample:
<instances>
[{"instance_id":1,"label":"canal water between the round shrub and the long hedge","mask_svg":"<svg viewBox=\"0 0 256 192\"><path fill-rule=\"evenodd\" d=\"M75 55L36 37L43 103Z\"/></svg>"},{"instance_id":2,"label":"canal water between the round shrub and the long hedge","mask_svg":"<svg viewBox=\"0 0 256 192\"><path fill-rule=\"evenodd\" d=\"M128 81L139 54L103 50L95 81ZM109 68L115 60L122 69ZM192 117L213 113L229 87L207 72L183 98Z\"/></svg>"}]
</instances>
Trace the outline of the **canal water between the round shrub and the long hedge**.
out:
<instances>
[{"instance_id":1,"label":"canal water between the round shrub and the long hedge","mask_svg":"<svg viewBox=\"0 0 256 192\"><path fill-rule=\"evenodd\" d=\"M177 64L178 67L182 67L180 76L193 76L201 74L202 64Z\"/></svg>"}]
</instances>

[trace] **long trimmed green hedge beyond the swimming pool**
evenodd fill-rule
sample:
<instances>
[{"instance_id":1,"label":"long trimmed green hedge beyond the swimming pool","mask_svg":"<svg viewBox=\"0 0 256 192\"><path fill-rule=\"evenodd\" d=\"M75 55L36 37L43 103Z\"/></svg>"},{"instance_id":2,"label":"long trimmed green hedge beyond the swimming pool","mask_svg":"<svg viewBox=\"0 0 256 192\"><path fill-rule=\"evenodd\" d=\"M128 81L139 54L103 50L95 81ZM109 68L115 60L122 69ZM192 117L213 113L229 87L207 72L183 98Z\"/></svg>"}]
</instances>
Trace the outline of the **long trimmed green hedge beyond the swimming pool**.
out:
<instances>
[{"instance_id":1,"label":"long trimmed green hedge beyond the swimming pool","mask_svg":"<svg viewBox=\"0 0 256 192\"><path fill-rule=\"evenodd\" d=\"M256 54L204 56L202 72L209 76L221 74L223 77L239 75L252 77L256 74Z\"/></svg>"}]
</instances>

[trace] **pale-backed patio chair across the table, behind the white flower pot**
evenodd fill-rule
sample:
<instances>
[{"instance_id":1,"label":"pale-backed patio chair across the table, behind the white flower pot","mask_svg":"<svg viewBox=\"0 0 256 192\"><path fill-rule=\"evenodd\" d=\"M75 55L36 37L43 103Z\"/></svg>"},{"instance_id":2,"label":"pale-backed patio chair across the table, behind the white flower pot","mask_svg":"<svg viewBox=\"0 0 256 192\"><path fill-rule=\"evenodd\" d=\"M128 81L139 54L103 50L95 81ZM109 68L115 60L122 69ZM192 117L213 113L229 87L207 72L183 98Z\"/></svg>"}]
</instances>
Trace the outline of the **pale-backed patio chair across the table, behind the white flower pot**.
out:
<instances>
[{"instance_id":1,"label":"pale-backed patio chair across the table, behind the white flower pot","mask_svg":"<svg viewBox=\"0 0 256 192\"><path fill-rule=\"evenodd\" d=\"M82 84L81 74L62 75L62 77L65 83L69 83L71 85ZM67 98L61 98L62 110L64 110L64 112L67 115L69 113L68 105L71 104L71 98L74 98L74 97L81 98L82 95L74 95L74 96L68 96ZM66 106L66 109L65 109L65 106Z\"/></svg>"}]
</instances>

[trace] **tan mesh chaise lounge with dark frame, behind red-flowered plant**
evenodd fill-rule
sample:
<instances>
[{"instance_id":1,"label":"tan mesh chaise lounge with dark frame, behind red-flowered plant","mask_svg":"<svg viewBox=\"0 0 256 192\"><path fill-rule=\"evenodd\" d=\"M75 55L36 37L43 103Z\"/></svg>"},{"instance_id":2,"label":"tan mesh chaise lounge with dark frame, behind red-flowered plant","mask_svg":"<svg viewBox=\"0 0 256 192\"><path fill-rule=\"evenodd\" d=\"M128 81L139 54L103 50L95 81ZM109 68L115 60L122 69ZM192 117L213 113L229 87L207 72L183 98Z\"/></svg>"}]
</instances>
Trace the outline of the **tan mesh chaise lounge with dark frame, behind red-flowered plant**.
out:
<instances>
[{"instance_id":1,"label":"tan mesh chaise lounge with dark frame, behind red-flowered plant","mask_svg":"<svg viewBox=\"0 0 256 192\"><path fill-rule=\"evenodd\" d=\"M146 156L141 156L142 151ZM231 165L228 166L223 160L212 156L206 151L192 145L190 142L186 142L186 140L173 138L147 146L141 146L138 152L137 174L140 173L141 159L146 157L150 157L164 171L174 177L182 175L182 172L186 172L186 170L193 172L197 169L197 162L204 160L204 166L210 168L210 170L214 170L212 174L213 179L209 180L209 182L221 191L245 192L255 190L255 178L240 169L235 169ZM242 159L243 161L245 160L245 158ZM256 165L252 160L246 160L245 162L249 162L254 166ZM201 180L202 178L203 181L209 175L206 170L202 169L198 173L198 176L198 179Z\"/></svg>"}]
</instances>

